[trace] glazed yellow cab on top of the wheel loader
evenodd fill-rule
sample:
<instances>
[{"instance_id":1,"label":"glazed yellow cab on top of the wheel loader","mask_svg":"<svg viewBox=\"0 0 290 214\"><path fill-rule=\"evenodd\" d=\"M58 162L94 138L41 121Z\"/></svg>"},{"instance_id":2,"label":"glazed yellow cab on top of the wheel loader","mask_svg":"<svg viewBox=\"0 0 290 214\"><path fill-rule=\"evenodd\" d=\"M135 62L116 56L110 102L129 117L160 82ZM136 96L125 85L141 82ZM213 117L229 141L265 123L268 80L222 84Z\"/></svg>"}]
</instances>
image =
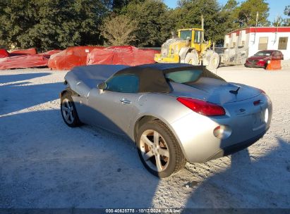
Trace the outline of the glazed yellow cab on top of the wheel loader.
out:
<instances>
[{"instance_id":1,"label":"glazed yellow cab on top of the wheel loader","mask_svg":"<svg viewBox=\"0 0 290 214\"><path fill-rule=\"evenodd\" d=\"M203 30L200 28L189 28L178 30L178 35L180 39L187 40L190 43L191 48L194 48L196 51L201 51L202 34Z\"/></svg>"}]
</instances>

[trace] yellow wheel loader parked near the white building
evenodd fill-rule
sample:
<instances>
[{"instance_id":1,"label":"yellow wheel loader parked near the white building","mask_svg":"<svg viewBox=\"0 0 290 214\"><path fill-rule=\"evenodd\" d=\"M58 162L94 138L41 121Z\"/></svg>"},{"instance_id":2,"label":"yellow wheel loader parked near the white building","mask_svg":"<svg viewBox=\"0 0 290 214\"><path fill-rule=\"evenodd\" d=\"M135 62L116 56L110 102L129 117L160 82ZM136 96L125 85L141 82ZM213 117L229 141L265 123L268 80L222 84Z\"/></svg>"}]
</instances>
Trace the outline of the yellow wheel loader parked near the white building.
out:
<instances>
[{"instance_id":1,"label":"yellow wheel loader parked near the white building","mask_svg":"<svg viewBox=\"0 0 290 214\"><path fill-rule=\"evenodd\" d=\"M211 42L204 42L204 30L190 28L178 30L174 36L162 44L161 53L155 54L157 63L189 63L206 65L208 69L219 66L219 55L210 49Z\"/></svg>"}]
</instances>

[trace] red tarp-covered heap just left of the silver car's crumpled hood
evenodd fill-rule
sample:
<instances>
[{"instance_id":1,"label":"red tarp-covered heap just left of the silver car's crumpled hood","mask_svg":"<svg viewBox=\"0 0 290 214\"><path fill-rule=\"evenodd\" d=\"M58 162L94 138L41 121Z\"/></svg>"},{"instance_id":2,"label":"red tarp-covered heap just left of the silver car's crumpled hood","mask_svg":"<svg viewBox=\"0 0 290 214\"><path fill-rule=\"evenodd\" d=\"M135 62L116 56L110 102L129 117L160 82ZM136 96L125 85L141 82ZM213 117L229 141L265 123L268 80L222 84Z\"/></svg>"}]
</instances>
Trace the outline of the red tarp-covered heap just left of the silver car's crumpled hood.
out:
<instances>
[{"instance_id":1,"label":"red tarp-covered heap just left of the silver car's crumpled hood","mask_svg":"<svg viewBox=\"0 0 290 214\"><path fill-rule=\"evenodd\" d=\"M86 65L87 53L93 49L104 49L99 46L74 46L56 53L49 58L48 66L53 70L71 70L80 65Z\"/></svg>"}]
</instances>

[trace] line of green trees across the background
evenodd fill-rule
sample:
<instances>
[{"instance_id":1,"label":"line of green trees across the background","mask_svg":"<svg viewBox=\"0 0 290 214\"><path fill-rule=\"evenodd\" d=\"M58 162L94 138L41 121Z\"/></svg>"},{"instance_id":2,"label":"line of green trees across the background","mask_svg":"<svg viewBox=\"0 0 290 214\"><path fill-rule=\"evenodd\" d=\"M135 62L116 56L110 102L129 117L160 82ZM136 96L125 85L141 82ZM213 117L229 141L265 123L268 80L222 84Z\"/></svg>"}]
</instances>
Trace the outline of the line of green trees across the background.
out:
<instances>
[{"instance_id":1,"label":"line of green trees across the background","mask_svg":"<svg viewBox=\"0 0 290 214\"><path fill-rule=\"evenodd\" d=\"M241 27L290 26L290 18L268 20L265 0L180 0L174 9L161 0L1 0L0 46L65 49L80 45L161 46L171 32L201 27L205 39L222 44ZM284 8L290 17L290 6Z\"/></svg>"}]
</instances>

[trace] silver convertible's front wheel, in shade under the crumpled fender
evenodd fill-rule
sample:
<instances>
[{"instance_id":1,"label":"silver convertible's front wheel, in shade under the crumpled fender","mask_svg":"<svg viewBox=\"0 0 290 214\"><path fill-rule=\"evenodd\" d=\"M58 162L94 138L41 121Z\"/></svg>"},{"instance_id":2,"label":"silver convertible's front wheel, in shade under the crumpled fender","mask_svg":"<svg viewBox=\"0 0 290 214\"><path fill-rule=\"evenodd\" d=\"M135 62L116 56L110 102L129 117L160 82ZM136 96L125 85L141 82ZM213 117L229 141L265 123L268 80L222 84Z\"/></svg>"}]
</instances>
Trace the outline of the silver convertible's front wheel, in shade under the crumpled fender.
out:
<instances>
[{"instance_id":1,"label":"silver convertible's front wheel, in shade under the crumpled fender","mask_svg":"<svg viewBox=\"0 0 290 214\"><path fill-rule=\"evenodd\" d=\"M69 127L78 127L81 125L75 103L73 103L73 99L68 93L61 96L61 116Z\"/></svg>"}]
</instances>

